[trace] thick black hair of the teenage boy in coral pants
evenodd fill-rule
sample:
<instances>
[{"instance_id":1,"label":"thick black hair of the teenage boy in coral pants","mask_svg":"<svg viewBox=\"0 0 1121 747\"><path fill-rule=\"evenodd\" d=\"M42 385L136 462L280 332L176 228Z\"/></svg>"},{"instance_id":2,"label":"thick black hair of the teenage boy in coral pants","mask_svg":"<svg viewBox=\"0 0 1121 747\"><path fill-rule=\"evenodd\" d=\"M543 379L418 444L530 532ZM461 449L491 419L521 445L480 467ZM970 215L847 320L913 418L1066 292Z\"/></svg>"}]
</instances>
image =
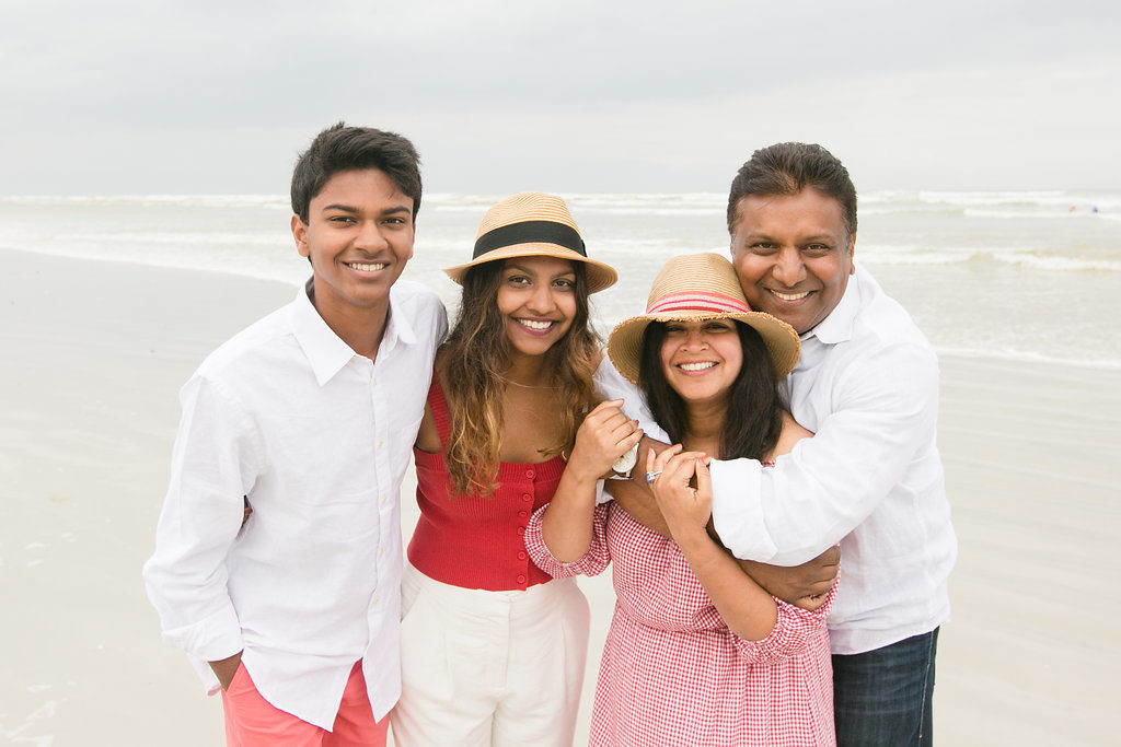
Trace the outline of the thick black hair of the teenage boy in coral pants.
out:
<instances>
[{"instance_id":1,"label":"thick black hair of the teenage boy in coral pants","mask_svg":"<svg viewBox=\"0 0 1121 747\"><path fill-rule=\"evenodd\" d=\"M413 218L420 212L420 157L396 132L339 122L315 136L291 174L291 212L307 223L307 208L323 186L340 171L378 169L413 198Z\"/></svg>"}]
</instances>

